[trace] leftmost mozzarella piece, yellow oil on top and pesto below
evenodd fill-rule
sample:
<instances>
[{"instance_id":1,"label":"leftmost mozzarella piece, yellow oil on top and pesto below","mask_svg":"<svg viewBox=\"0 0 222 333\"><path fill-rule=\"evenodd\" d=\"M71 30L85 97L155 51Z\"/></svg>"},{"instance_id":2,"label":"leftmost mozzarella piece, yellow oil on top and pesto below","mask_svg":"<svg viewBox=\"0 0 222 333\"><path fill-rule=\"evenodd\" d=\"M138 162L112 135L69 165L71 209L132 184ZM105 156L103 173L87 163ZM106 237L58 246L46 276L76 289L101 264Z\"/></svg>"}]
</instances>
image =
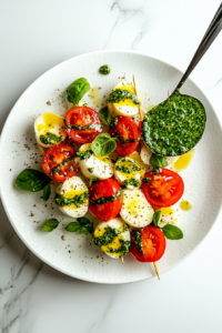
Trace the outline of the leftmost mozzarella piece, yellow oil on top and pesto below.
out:
<instances>
[{"instance_id":1,"label":"leftmost mozzarella piece, yellow oil on top and pesto below","mask_svg":"<svg viewBox=\"0 0 222 333\"><path fill-rule=\"evenodd\" d=\"M46 148L58 144L67 138L62 117L50 112L41 114L36 119L34 132L37 142ZM42 142L41 138L48 138L50 134L52 134L57 141L51 140L50 143Z\"/></svg>"}]
</instances>

